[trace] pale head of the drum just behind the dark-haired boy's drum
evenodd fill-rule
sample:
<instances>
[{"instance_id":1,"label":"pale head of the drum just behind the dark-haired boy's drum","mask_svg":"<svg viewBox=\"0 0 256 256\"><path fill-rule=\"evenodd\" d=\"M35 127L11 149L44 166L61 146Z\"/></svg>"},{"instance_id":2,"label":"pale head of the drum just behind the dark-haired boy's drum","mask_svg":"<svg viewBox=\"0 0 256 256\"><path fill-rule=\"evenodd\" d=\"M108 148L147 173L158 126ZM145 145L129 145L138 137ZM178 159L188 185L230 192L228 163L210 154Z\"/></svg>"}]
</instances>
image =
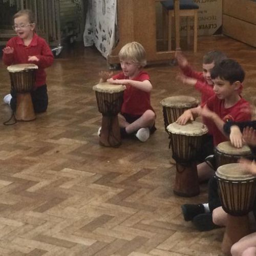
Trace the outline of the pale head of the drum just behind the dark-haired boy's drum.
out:
<instances>
[{"instance_id":1,"label":"pale head of the drum just behind the dark-haired boy's drum","mask_svg":"<svg viewBox=\"0 0 256 256\"><path fill-rule=\"evenodd\" d=\"M168 97L160 101L162 106L169 106L170 108L194 108L198 105L198 100L194 97L178 95L173 97Z\"/></svg>"}]
</instances>

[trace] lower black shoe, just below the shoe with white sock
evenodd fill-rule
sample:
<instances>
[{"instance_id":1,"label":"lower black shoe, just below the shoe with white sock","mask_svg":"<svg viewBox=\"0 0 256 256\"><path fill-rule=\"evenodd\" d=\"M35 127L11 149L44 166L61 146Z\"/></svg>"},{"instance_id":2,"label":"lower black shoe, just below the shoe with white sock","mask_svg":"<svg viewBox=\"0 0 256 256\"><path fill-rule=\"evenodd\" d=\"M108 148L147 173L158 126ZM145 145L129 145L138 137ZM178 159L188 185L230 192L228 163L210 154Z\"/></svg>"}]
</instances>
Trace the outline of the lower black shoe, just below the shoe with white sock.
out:
<instances>
[{"instance_id":1,"label":"lower black shoe, just below the shoe with white sock","mask_svg":"<svg viewBox=\"0 0 256 256\"><path fill-rule=\"evenodd\" d=\"M220 227L212 222L212 213L211 212L207 212L206 214L200 214L200 215L196 216L192 220L192 222L196 226L197 230L199 230L199 231L209 231L214 228Z\"/></svg>"}]
</instances>

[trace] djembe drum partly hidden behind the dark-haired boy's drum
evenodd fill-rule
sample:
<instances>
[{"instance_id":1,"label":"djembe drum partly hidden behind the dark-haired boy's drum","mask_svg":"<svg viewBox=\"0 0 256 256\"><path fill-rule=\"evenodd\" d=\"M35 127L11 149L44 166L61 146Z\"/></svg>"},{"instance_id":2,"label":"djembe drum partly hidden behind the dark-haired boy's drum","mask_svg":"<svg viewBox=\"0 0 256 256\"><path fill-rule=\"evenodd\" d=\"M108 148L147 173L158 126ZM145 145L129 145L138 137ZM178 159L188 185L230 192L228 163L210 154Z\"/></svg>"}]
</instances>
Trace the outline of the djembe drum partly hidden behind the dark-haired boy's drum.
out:
<instances>
[{"instance_id":1,"label":"djembe drum partly hidden behind the dark-haired boy's drum","mask_svg":"<svg viewBox=\"0 0 256 256\"><path fill-rule=\"evenodd\" d=\"M165 131L170 123L176 122L176 120L183 114L185 110L195 108L198 105L198 100L190 96L172 96L160 101L163 106L163 121Z\"/></svg>"}]
</instances>

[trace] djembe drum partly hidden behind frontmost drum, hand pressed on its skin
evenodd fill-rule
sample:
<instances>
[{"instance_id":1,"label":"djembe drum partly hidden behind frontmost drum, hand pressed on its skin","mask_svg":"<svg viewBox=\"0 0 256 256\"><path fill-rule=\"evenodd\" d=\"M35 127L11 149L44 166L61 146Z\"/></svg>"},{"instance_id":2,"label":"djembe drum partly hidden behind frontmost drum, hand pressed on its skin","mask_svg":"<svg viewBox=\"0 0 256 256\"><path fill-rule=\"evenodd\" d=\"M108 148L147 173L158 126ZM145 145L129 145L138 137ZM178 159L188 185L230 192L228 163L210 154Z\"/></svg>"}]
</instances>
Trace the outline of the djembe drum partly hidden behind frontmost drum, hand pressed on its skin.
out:
<instances>
[{"instance_id":1,"label":"djembe drum partly hidden behind frontmost drum, hand pressed on its skin","mask_svg":"<svg viewBox=\"0 0 256 256\"><path fill-rule=\"evenodd\" d=\"M251 159L251 151L247 145L244 145L241 148L236 148L232 146L230 141L224 141L218 144L214 148L214 153L216 156L217 167L228 164L228 163L237 163L238 160L243 157Z\"/></svg>"}]
</instances>

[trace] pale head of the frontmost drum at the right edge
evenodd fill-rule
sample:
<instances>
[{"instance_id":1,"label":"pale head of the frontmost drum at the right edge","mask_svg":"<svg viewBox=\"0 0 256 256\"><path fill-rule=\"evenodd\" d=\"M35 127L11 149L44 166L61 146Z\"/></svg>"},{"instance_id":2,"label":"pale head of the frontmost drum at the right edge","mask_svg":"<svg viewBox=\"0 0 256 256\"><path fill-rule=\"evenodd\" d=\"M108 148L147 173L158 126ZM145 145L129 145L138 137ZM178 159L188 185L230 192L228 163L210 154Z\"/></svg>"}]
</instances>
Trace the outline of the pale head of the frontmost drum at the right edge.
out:
<instances>
[{"instance_id":1,"label":"pale head of the frontmost drum at the right edge","mask_svg":"<svg viewBox=\"0 0 256 256\"><path fill-rule=\"evenodd\" d=\"M220 166L216 171L216 176L230 181L243 181L256 179L256 177L248 174L248 170L242 163L229 163Z\"/></svg>"}]
</instances>

